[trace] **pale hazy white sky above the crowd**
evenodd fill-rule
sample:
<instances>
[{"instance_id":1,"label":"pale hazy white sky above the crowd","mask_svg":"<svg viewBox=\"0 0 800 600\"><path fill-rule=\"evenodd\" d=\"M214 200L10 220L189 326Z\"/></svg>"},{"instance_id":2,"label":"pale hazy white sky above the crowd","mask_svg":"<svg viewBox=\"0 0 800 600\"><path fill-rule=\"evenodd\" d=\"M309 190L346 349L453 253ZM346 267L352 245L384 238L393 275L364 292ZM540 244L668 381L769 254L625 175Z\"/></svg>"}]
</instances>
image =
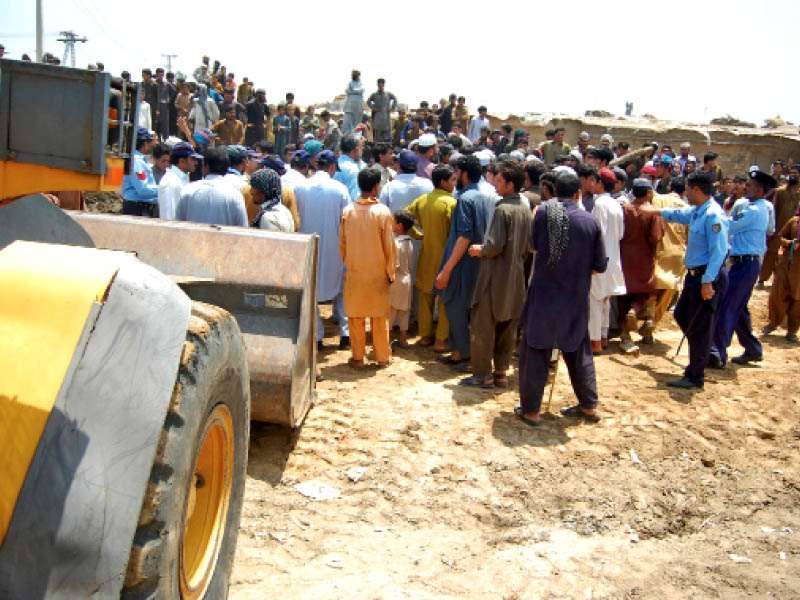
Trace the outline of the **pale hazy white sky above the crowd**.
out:
<instances>
[{"instance_id":1,"label":"pale hazy white sky above the crowd","mask_svg":"<svg viewBox=\"0 0 800 600\"><path fill-rule=\"evenodd\" d=\"M623 114L631 101L662 119L800 121L792 0L43 3L45 51L63 55L62 30L89 38L79 67L99 60L138 78L165 66L163 53L190 74L208 54L270 102L329 100L357 68L368 94L385 77L412 106L456 92L491 112ZM0 0L7 57L33 56L34 33L35 0Z\"/></svg>"}]
</instances>

